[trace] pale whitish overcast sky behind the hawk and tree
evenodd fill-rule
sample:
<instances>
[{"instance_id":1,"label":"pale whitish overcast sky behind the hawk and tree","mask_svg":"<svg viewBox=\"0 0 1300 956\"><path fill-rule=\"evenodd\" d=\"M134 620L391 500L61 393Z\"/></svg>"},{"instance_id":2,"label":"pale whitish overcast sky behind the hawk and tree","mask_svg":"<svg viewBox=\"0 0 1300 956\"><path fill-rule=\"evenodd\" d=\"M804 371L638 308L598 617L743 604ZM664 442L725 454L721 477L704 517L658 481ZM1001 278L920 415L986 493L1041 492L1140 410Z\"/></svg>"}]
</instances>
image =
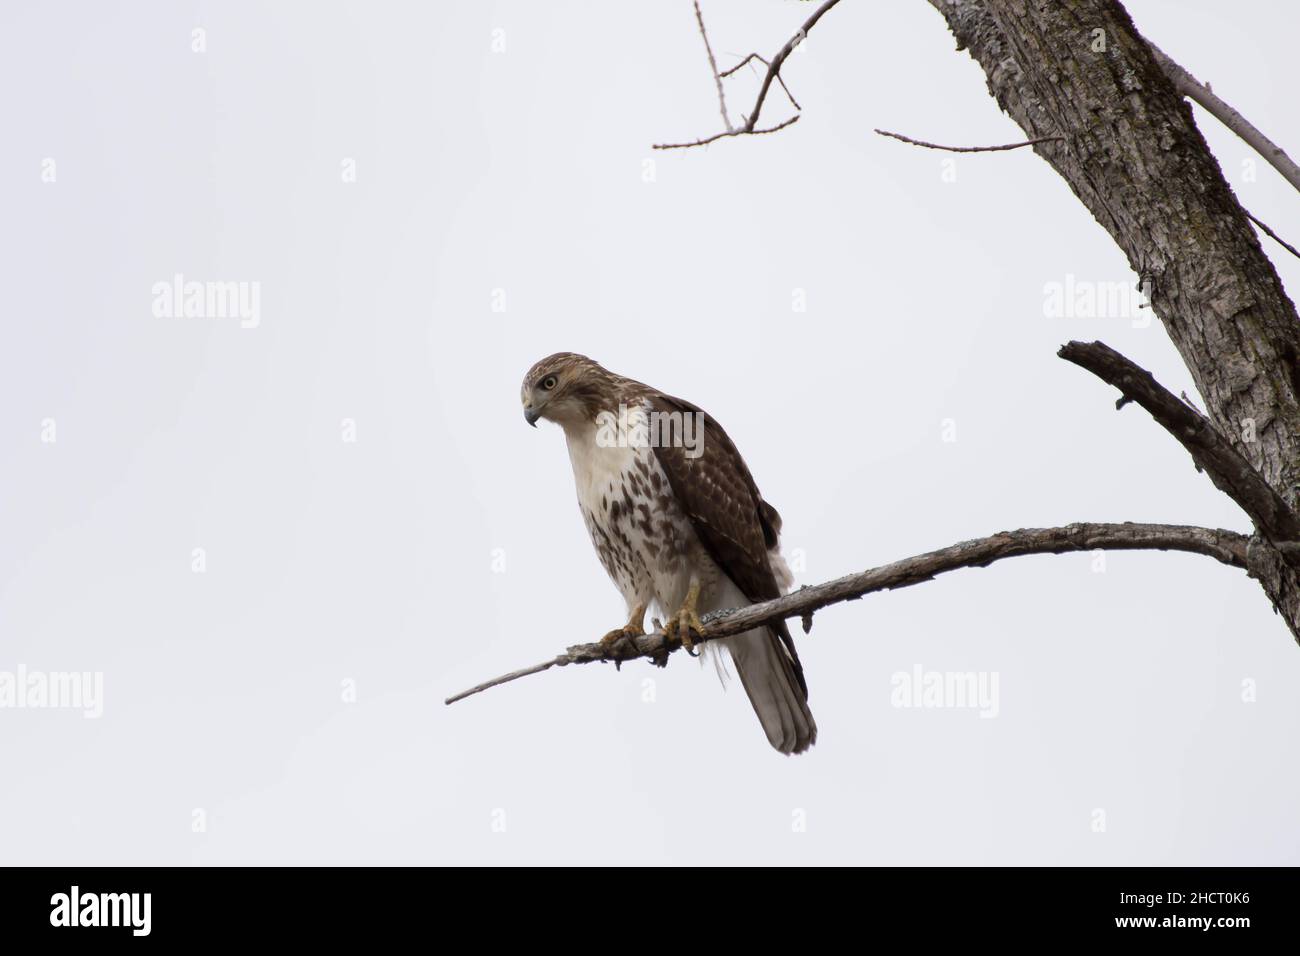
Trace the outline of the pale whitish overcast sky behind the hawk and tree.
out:
<instances>
[{"instance_id":1,"label":"pale whitish overcast sky behind the hawk and tree","mask_svg":"<svg viewBox=\"0 0 1300 956\"><path fill-rule=\"evenodd\" d=\"M1291 4L1128 7L1300 150ZM705 3L723 66L809 10ZM676 153L650 144L719 129L686 0L6 4L0 27L0 670L105 682L98 722L0 710L0 861L1300 861L1300 650L1200 557L1023 558L819 614L800 758L684 657L442 704L621 619L562 434L520 416L556 350L715 414L803 583L1020 525L1247 529L1054 356L1102 338L1191 389L1158 324L1044 315L1067 273L1134 280L1065 182L871 133L1022 138L927 4L845 0L786 69L796 126ZM1300 198L1197 118L1300 239ZM176 272L260 282L261 325L155 317ZM996 671L997 719L892 708L918 663Z\"/></svg>"}]
</instances>

